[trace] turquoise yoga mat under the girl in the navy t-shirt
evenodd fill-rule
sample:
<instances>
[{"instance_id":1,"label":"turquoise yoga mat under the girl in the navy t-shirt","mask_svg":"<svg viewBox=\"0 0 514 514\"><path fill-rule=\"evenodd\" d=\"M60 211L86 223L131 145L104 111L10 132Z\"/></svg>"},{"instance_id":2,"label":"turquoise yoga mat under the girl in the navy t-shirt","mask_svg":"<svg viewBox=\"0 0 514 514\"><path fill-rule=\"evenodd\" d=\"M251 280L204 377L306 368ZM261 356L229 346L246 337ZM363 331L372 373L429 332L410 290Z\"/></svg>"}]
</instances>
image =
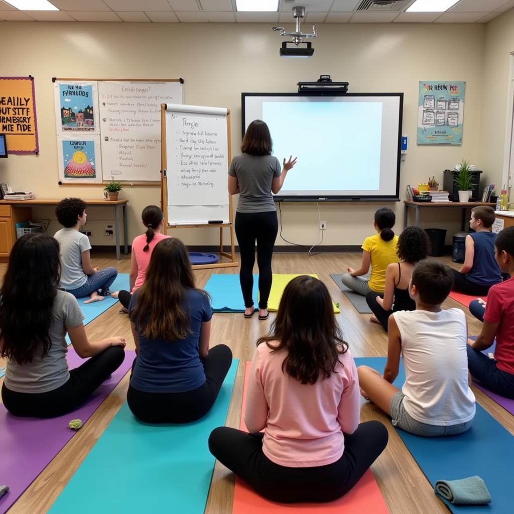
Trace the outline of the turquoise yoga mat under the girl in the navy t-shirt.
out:
<instances>
[{"instance_id":1,"label":"turquoise yoga mat under the girl in the navy t-shirt","mask_svg":"<svg viewBox=\"0 0 514 514\"><path fill-rule=\"evenodd\" d=\"M143 424L125 403L50 512L203 514L215 463L208 438L225 425L237 364L213 408L195 423Z\"/></svg>"}]
</instances>

